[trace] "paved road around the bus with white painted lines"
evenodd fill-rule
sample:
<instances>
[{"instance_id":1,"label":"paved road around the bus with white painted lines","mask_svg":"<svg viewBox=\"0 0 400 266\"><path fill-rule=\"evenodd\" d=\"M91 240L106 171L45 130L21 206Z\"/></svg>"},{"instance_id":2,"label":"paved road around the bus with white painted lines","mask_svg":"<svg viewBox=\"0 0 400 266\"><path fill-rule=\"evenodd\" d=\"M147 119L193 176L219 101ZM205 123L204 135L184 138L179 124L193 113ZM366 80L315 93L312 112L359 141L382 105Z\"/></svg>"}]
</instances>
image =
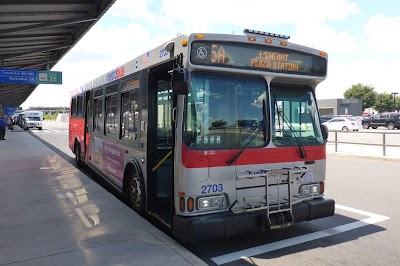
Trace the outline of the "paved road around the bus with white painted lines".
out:
<instances>
[{"instance_id":1,"label":"paved road around the bus with white painted lines","mask_svg":"<svg viewBox=\"0 0 400 266\"><path fill-rule=\"evenodd\" d=\"M61 152L67 138L54 130L60 128L31 133ZM380 158L328 155L326 195L336 200L333 217L279 231L199 241L187 248L209 265L398 265L399 165Z\"/></svg>"}]
</instances>

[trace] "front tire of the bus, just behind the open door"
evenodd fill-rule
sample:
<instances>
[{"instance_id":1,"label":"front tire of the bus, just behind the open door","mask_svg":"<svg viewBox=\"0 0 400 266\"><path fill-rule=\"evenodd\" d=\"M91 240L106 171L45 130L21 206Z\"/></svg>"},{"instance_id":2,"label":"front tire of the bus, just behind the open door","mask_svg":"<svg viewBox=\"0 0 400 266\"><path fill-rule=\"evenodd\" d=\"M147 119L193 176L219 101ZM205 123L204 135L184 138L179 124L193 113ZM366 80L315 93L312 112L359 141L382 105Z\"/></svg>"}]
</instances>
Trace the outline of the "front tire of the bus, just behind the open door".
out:
<instances>
[{"instance_id":1,"label":"front tire of the bus, just behind the open door","mask_svg":"<svg viewBox=\"0 0 400 266\"><path fill-rule=\"evenodd\" d=\"M143 178L136 170L128 170L124 180L124 194L126 204L137 213L144 214L145 189Z\"/></svg>"}]
</instances>

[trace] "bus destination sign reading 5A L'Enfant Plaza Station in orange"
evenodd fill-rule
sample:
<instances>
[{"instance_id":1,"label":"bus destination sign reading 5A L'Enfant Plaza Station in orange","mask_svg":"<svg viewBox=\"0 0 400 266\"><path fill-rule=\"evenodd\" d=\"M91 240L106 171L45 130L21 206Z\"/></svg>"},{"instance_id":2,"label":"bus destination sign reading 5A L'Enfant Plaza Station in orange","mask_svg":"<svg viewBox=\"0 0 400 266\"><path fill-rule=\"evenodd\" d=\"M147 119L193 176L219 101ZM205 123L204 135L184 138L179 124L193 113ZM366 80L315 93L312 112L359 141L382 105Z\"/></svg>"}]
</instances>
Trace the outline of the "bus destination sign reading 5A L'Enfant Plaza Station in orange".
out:
<instances>
[{"instance_id":1,"label":"bus destination sign reading 5A L'Enfant Plaza Station in orange","mask_svg":"<svg viewBox=\"0 0 400 266\"><path fill-rule=\"evenodd\" d=\"M281 47L239 43L194 42L190 60L196 65L251 68L324 77L326 59Z\"/></svg>"}]
</instances>

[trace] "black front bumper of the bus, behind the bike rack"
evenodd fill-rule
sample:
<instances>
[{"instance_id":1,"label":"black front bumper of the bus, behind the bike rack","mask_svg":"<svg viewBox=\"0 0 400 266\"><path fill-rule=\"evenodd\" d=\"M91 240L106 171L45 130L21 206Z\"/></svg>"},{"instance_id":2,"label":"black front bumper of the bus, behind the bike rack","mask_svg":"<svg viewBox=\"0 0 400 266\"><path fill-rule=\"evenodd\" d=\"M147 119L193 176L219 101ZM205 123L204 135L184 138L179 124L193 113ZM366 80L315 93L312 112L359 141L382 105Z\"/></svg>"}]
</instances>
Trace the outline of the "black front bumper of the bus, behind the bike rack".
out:
<instances>
[{"instance_id":1,"label":"black front bumper of the bus, behind the bike rack","mask_svg":"<svg viewBox=\"0 0 400 266\"><path fill-rule=\"evenodd\" d=\"M293 205L295 222L311 221L332 216L334 212L335 201L327 198L314 199ZM265 229L265 212L263 211L240 214L223 212L195 217L174 215L172 233L174 237L183 242L192 242L263 231Z\"/></svg>"}]
</instances>

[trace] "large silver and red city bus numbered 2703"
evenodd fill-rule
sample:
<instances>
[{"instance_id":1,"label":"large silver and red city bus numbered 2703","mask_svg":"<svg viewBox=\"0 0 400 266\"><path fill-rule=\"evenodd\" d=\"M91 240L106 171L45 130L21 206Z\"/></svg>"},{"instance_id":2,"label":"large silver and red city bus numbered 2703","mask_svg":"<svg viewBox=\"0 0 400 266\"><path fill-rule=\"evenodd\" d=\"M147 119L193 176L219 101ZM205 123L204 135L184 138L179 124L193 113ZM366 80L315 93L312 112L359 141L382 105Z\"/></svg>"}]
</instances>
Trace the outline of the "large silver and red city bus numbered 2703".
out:
<instances>
[{"instance_id":1,"label":"large silver and red city bus numbered 2703","mask_svg":"<svg viewBox=\"0 0 400 266\"><path fill-rule=\"evenodd\" d=\"M77 165L183 243L335 211L315 97L327 53L243 33L176 36L71 92Z\"/></svg>"}]
</instances>

